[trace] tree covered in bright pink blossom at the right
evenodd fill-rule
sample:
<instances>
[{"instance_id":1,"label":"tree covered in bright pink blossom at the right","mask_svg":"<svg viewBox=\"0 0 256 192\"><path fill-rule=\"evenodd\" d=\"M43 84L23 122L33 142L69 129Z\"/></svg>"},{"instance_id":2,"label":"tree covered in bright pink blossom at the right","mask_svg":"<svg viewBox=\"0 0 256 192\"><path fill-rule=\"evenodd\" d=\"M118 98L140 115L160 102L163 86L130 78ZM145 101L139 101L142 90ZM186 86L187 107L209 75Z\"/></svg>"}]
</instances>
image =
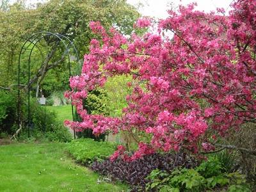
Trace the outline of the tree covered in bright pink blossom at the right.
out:
<instances>
[{"instance_id":1,"label":"tree covered in bright pink blossom at the right","mask_svg":"<svg viewBox=\"0 0 256 192\"><path fill-rule=\"evenodd\" d=\"M66 124L76 131L93 129L96 135L133 129L148 134L150 142L138 143L132 156L122 146L112 156L130 161L156 150L215 150L221 146L215 145L216 137L256 123L256 1L234 1L226 16L221 9L204 13L194 6L170 10L169 17L159 21L158 33L142 37L127 38L91 22L102 39L92 40L82 73L70 78L72 91L66 93L83 122ZM142 18L134 27L147 28L150 23ZM166 31L173 36L164 36ZM127 95L124 115L88 115L82 102L87 93L120 74L134 79L127 84L133 92Z\"/></svg>"}]
</instances>

